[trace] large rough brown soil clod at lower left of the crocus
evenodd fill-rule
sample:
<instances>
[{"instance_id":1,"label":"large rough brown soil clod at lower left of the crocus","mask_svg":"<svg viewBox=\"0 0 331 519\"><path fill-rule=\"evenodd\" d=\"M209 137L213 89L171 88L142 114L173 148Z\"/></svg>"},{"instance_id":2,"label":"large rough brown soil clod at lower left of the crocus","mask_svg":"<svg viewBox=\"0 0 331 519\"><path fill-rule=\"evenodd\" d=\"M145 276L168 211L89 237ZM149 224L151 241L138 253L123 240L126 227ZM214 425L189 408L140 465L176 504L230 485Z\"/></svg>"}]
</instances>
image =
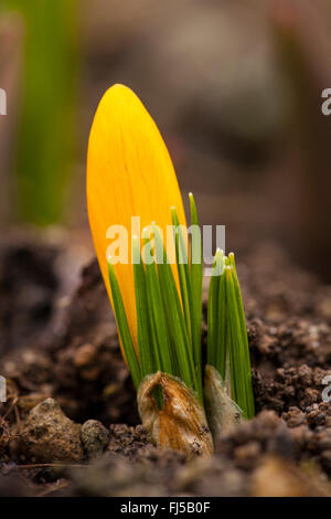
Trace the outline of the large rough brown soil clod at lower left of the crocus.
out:
<instances>
[{"instance_id":1,"label":"large rough brown soil clod at lower left of the crocus","mask_svg":"<svg viewBox=\"0 0 331 519\"><path fill-rule=\"evenodd\" d=\"M67 419L55 400L46 399L30 411L10 448L21 462L78 462L79 433L81 425Z\"/></svg>"}]
</instances>

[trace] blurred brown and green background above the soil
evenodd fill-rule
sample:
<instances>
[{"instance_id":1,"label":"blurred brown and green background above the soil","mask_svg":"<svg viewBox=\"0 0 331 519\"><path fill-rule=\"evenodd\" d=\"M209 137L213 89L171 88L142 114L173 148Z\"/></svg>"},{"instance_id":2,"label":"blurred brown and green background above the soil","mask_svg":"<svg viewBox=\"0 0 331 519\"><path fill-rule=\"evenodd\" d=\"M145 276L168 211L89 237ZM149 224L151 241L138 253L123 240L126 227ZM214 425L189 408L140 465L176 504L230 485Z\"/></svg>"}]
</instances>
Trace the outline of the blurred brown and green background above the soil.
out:
<instances>
[{"instance_id":1,"label":"blurred brown and green background above the soil","mask_svg":"<svg viewBox=\"0 0 331 519\"><path fill-rule=\"evenodd\" d=\"M93 254L88 133L125 83L227 251L278 242L330 280L330 0L1 0L1 239L65 232Z\"/></svg>"}]
</instances>

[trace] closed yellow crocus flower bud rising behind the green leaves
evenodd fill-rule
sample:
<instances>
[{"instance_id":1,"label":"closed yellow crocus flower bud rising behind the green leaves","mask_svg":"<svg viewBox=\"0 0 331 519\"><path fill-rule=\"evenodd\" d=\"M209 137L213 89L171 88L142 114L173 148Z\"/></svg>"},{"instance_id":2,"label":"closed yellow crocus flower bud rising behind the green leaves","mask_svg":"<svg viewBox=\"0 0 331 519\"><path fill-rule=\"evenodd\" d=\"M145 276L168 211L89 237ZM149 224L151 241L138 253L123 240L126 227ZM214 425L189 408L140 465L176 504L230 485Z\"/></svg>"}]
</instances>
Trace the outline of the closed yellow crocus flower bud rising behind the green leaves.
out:
<instances>
[{"instance_id":1,"label":"closed yellow crocus flower bud rising behind the green leaves","mask_svg":"<svg viewBox=\"0 0 331 519\"><path fill-rule=\"evenodd\" d=\"M128 231L129 263L115 265L130 333L137 350L134 268L130 262L131 216L140 216L141 230L152 221L163 230L172 224L171 206L185 225L175 172L157 125L135 95L111 86L97 108L87 153L87 209L93 241L110 297L106 237L110 225ZM173 267L175 275L175 271ZM110 297L111 300L111 297Z\"/></svg>"}]
</instances>

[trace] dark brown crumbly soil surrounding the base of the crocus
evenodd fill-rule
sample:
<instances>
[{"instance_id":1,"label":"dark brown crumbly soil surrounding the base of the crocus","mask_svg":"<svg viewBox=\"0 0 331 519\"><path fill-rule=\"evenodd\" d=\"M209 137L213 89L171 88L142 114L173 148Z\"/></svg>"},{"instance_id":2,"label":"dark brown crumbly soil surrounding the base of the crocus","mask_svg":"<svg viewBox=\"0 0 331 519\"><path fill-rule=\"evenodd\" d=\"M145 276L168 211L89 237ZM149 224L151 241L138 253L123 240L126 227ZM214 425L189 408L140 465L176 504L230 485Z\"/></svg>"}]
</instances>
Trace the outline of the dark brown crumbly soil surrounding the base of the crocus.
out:
<instances>
[{"instance_id":1,"label":"dark brown crumbly soil surrounding the base of the crocus","mask_svg":"<svg viewBox=\"0 0 331 519\"><path fill-rule=\"evenodd\" d=\"M331 286L275 244L238 261L257 414L188 463L139 425L97 263L68 248L0 246L0 496L331 495Z\"/></svg>"}]
</instances>

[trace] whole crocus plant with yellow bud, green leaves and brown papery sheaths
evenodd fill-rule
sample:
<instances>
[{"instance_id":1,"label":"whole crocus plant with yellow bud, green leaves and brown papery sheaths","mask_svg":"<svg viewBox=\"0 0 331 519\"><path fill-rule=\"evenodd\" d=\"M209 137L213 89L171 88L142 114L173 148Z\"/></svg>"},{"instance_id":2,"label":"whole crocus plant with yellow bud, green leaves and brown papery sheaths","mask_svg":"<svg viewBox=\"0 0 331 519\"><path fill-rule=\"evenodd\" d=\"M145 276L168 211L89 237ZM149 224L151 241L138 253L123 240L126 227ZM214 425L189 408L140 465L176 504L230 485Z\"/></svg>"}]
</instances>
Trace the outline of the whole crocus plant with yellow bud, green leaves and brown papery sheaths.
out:
<instances>
[{"instance_id":1,"label":"whole crocus plant with yellow bud, green leaves and brown papery sheaths","mask_svg":"<svg viewBox=\"0 0 331 519\"><path fill-rule=\"evenodd\" d=\"M210 284L203 366L202 241L194 198L189 197L190 239L158 128L129 88L109 88L88 145L87 205L94 244L142 423L158 445L192 456L212 453L222 432L242 416L254 416L254 398L234 255L226 257L221 251ZM121 237L131 245L130 260L128 251L116 254L119 241L108 246L114 224L118 234L125 229Z\"/></svg>"}]
</instances>

